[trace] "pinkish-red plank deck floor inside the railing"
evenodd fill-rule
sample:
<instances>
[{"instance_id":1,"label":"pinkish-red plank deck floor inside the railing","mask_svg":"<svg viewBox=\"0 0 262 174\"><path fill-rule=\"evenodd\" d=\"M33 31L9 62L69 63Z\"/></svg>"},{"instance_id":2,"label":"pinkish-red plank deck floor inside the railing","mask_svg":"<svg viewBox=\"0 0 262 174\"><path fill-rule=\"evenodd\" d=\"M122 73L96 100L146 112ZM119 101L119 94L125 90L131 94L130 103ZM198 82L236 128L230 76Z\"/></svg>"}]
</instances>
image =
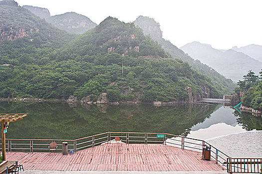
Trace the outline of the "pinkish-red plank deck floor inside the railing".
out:
<instances>
[{"instance_id":1,"label":"pinkish-red plank deck floor inside the railing","mask_svg":"<svg viewBox=\"0 0 262 174\"><path fill-rule=\"evenodd\" d=\"M201 153L162 144L105 144L61 153L8 152L25 170L57 171L221 171L214 161L202 161Z\"/></svg>"}]
</instances>

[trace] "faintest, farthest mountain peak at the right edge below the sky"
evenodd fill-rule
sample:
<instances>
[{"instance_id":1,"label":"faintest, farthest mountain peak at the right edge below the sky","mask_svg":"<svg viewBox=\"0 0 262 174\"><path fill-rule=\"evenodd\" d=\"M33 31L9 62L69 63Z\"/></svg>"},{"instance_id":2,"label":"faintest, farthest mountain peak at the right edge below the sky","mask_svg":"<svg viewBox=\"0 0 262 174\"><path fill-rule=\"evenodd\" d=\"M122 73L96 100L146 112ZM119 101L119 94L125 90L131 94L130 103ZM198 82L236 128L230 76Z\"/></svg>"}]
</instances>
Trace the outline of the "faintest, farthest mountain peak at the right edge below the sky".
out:
<instances>
[{"instance_id":1,"label":"faintest, farthest mountain peak at the right edge below the sky","mask_svg":"<svg viewBox=\"0 0 262 174\"><path fill-rule=\"evenodd\" d=\"M244 47L238 48L237 46L232 47L233 50L245 53L246 55L249 55L250 57L262 62L262 46L261 45L247 45Z\"/></svg>"}]
</instances>

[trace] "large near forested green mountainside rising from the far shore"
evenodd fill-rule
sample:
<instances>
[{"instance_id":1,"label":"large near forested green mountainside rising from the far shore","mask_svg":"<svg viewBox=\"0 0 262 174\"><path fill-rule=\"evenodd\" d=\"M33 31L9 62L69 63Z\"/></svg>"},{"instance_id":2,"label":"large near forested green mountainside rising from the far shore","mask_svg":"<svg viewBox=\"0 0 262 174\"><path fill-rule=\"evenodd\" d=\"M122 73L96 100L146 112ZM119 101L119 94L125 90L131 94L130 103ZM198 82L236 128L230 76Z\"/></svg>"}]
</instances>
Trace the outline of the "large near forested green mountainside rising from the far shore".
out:
<instances>
[{"instance_id":1,"label":"large near forested green mountainside rising from the far shore","mask_svg":"<svg viewBox=\"0 0 262 174\"><path fill-rule=\"evenodd\" d=\"M133 23L108 17L75 36L25 8L1 5L0 11L3 33L10 27L32 31L12 41L8 41L11 33L2 39L0 65L5 66L0 66L0 97L74 94L96 100L107 92L109 101L175 101L188 100L188 87L195 98L221 96L211 79L172 58Z\"/></svg>"}]
</instances>

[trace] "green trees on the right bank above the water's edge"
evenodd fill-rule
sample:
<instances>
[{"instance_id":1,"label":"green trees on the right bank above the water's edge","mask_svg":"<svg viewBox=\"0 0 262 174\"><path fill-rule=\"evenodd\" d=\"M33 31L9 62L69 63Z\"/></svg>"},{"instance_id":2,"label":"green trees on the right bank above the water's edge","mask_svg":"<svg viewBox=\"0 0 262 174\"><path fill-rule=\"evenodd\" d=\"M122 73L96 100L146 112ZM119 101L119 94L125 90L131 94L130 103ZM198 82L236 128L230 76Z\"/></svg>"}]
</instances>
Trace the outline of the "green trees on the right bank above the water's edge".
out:
<instances>
[{"instance_id":1,"label":"green trees on the right bank above the water's edge","mask_svg":"<svg viewBox=\"0 0 262 174\"><path fill-rule=\"evenodd\" d=\"M245 95L241 98L244 106L252 107L254 109L262 110L262 71L260 75L250 70L249 73L244 76L243 81L238 82L239 87L236 87L235 91L244 91Z\"/></svg>"}]
</instances>

